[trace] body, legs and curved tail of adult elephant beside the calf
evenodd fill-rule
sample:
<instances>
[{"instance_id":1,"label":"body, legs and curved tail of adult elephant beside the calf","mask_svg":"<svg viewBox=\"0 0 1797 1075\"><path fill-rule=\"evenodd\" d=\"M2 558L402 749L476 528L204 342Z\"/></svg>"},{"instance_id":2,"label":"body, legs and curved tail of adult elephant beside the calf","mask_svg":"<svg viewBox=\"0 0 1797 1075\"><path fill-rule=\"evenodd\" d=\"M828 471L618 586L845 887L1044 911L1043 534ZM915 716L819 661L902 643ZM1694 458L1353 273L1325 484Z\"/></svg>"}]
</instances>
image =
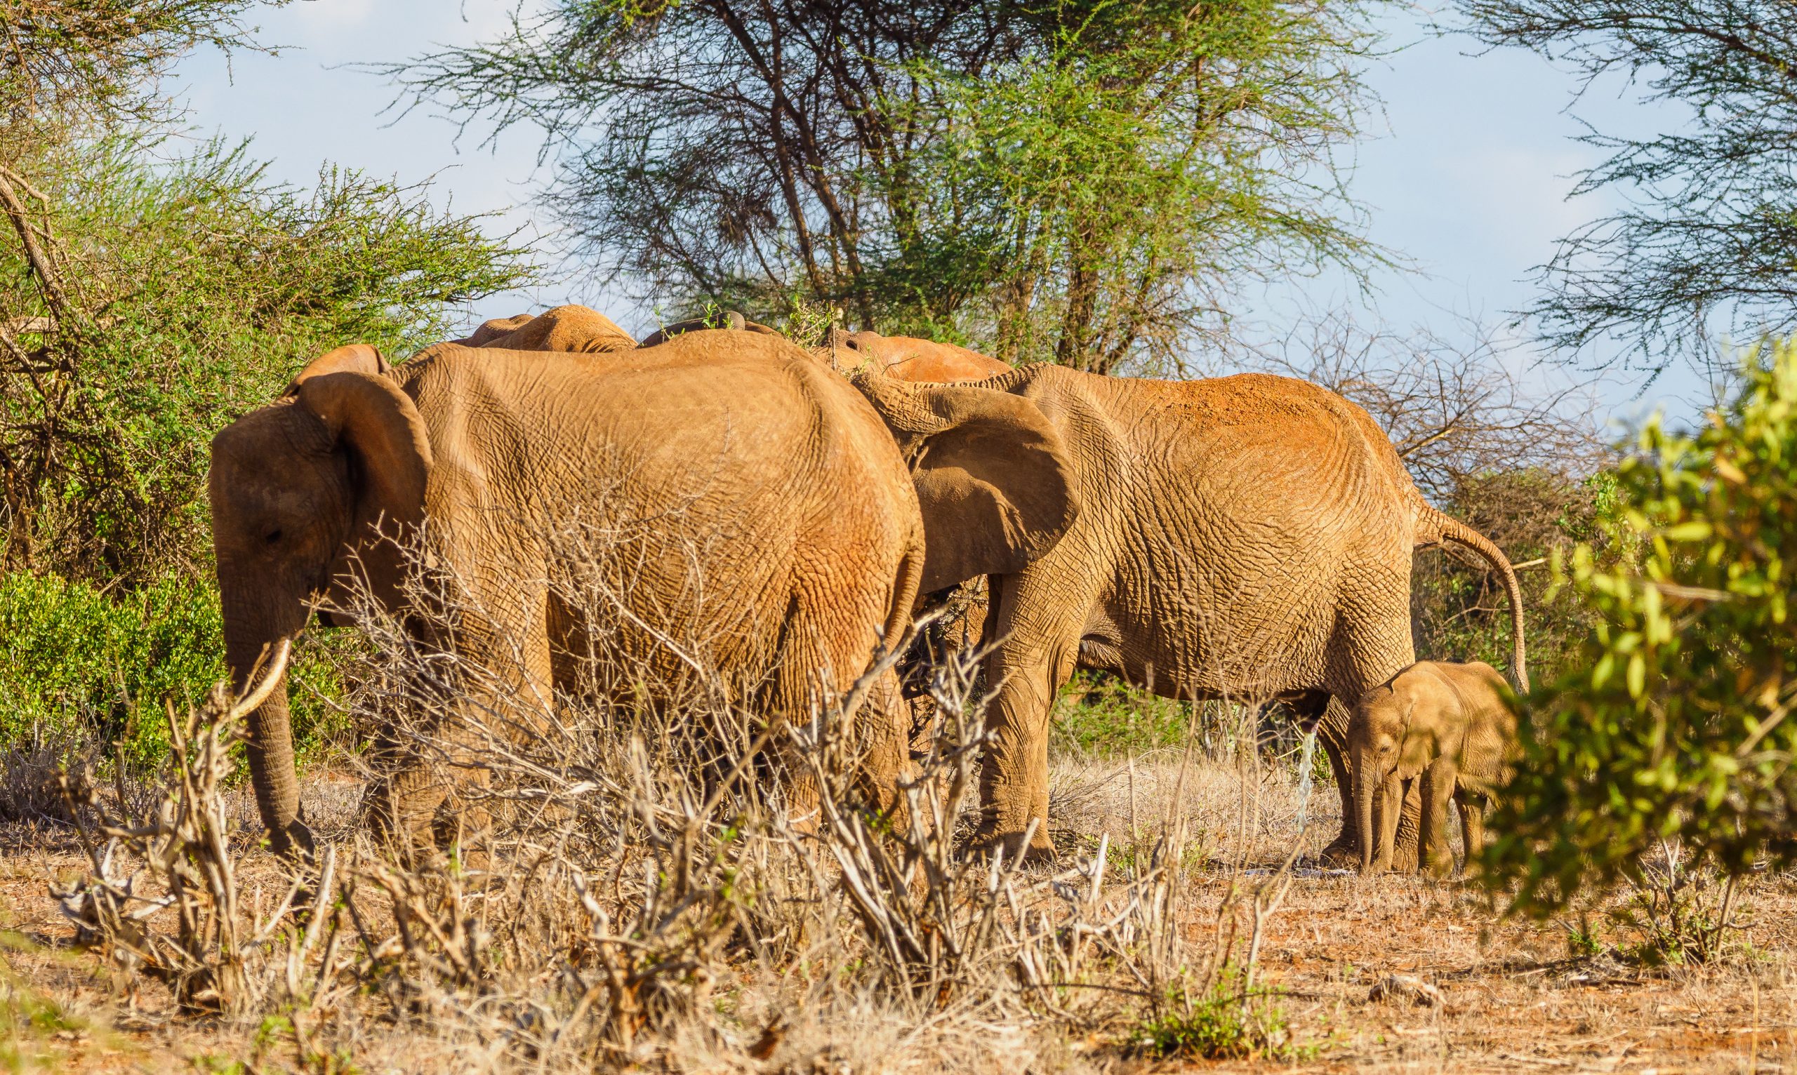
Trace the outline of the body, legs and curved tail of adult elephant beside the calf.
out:
<instances>
[{"instance_id":1,"label":"body, legs and curved tail of adult elephant beside the calf","mask_svg":"<svg viewBox=\"0 0 1797 1075\"><path fill-rule=\"evenodd\" d=\"M864 385L875 397L898 390L890 378ZM970 386L1048 417L1082 503L1053 550L988 581L987 840L1022 850L1035 822L1030 850L1049 850L1049 708L1085 667L1168 697L1281 699L1315 719L1342 795L1332 852L1351 854L1346 706L1414 662L1421 545L1463 545L1504 575L1513 667L1527 683L1509 561L1430 507L1377 422L1341 395L1267 374L1150 381L1049 365ZM947 496L927 482L918 493L927 521ZM931 548L952 539L942 523L925 529Z\"/></svg>"}]
</instances>

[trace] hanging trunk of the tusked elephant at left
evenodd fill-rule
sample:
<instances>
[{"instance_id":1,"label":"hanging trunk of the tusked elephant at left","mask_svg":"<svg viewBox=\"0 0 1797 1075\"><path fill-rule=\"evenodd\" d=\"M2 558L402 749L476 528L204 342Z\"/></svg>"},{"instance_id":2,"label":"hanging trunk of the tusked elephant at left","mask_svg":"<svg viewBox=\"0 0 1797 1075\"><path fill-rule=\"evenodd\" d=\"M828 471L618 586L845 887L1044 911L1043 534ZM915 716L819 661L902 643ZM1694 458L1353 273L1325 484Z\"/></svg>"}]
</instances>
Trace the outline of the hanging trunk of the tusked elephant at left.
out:
<instances>
[{"instance_id":1,"label":"hanging trunk of the tusked elephant at left","mask_svg":"<svg viewBox=\"0 0 1797 1075\"><path fill-rule=\"evenodd\" d=\"M230 663L232 690L241 697L253 687L252 672L273 660L280 642L298 635L298 624L286 631L259 629L259 622L266 624L268 617L255 617L234 604L228 599L225 602L225 660ZM311 832L300 816L286 669L280 671L266 701L250 710L248 732L250 786L255 789L255 807L268 827L270 847L277 852L295 845L311 850Z\"/></svg>"}]
</instances>

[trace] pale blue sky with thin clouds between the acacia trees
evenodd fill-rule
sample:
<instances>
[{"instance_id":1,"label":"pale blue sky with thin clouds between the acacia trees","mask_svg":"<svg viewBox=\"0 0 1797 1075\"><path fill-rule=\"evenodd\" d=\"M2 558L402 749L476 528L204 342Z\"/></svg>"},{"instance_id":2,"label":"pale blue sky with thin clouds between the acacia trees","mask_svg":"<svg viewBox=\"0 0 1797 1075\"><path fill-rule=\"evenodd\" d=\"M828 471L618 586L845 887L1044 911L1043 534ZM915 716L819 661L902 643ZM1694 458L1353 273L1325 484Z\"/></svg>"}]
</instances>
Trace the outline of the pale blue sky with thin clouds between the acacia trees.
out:
<instances>
[{"instance_id":1,"label":"pale blue sky with thin clouds between the acacia trees","mask_svg":"<svg viewBox=\"0 0 1797 1075\"><path fill-rule=\"evenodd\" d=\"M399 117L394 88L358 63L404 59L440 43L473 43L505 29L516 0L300 0L255 20L277 56L199 54L178 72L198 137L252 137L253 155L277 178L309 183L323 162L433 185L438 205L491 212L494 230L546 234L528 200L546 178L537 142L509 131L487 146L483 129L458 131L419 110ZM1621 86L1589 93L1567 111L1578 83L1569 72L1518 50L1475 54L1466 38L1438 38L1418 11L1380 22L1387 47L1369 83L1384 113L1353 153L1351 192L1371 210L1371 237L1403 255L1414 273L1387 273L1360 300L1335 279L1303 280L1265 298L1261 320L1297 307L1371 307L1396 329L1452 331L1466 316L1497 324L1535 295L1529 270L1553 255L1554 239L1601 216L1608 194L1567 200L1572 173L1598 160L1574 142L1576 117L1603 129L1648 129L1664 111L1635 104ZM527 306L588 302L629 329L654 322L589 282L552 284L536 295L501 295L467 311L469 322ZM1522 349L1518 354L1527 354ZM1549 374L1544 374L1549 376ZM1651 390L1617 379L1610 404L1637 415L1664 404L1689 415L1702 403L1698 379L1675 376Z\"/></svg>"}]
</instances>

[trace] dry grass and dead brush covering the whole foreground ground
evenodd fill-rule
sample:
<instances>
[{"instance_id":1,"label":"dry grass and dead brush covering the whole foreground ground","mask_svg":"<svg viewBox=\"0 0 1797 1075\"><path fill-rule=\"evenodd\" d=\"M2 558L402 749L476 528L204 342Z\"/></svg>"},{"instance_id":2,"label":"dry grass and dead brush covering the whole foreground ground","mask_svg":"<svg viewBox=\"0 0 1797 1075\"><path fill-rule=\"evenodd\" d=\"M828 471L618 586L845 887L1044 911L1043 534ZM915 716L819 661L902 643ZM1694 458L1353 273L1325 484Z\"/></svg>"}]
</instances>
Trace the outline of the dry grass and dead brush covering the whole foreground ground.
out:
<instances>
[{"instance_id":1,"label":"dry grass and dead brush covering the whole foreground ground","mask_svg":"<svg viewBox=\"0 0 1797 1075\"><path fill-rule=\"evenodd\" d=\"M580 597L625 611L618 588ZM20 818L0 825L0 1066L1797 1066L1786 877L1745 886L1720 958L1650 967L1617 955L1635 928L1580 938L1459 883L1306 868L1341 823L1335 789L1308 787L1301 757L1269 762L1245 721L1229 750L1060 759L1058 861L990 863L961 847L983 721L965 656L934 671L940 719L893 814L857 778L866 710L823 699L769 724L704 638L658 627L688 660L658 690L674 701L645 708L606 685L670 674L654 654L595 647L591 690L544 699L363 622L356 717L397 721L374 757L456 780L462 847L376 841L368 759L340 759L305 778L322 856L266 854L225 780L243 703L223 692L169 714L156 778L70 780L61 811L41 751L20 751L0 773L31 800L0 807Z\"/></svg>"}]
</instances>

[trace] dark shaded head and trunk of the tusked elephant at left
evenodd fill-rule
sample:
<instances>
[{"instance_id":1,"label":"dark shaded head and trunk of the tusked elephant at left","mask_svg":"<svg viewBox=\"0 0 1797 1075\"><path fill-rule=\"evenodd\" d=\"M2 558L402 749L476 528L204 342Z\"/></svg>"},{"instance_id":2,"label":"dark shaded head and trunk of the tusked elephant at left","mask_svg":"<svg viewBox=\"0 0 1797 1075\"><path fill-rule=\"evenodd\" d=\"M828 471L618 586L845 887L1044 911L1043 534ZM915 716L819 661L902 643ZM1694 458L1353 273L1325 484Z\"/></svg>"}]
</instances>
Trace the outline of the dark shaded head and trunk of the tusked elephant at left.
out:
<instances>
[{"instance_id":1,"label":"dark shaded head and trunk of the tusked elephant at left","mask_svg":"<svg viewBox=\"0 0 1797 1075\"><path fill-rule=\"evenodd\" d=\"M237 690L334 586L397 588L399 539L424 520L431 448L412 399L367 345L305 367L280 401L212 439L212 546ZM250 780L277 850L309 843L286 683L250 714Z\"/></svg>"}]
</instances>

